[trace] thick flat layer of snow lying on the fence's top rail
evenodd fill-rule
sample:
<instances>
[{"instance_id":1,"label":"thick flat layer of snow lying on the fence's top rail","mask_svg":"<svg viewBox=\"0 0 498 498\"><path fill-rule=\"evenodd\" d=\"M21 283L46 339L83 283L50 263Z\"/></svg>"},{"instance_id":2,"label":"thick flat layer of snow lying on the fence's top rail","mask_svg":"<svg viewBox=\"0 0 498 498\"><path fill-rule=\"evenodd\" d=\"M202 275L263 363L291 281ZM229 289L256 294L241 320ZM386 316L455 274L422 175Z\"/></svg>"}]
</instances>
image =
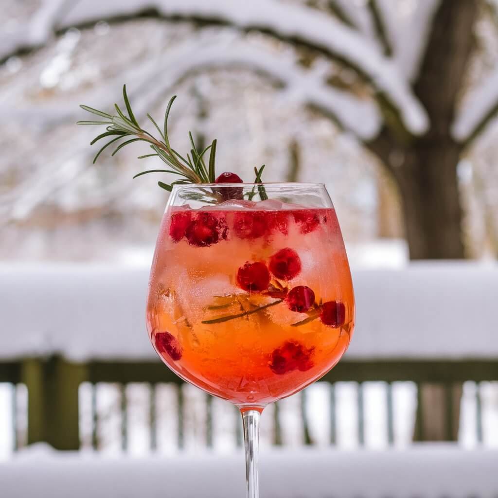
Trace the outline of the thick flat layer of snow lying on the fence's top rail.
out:
<instances>
[{"instance_id":1,"label":"thick flat layer of snow lying on the fence's top rail","mask_svg":"<svg viewBox=\"0 0 498 498\"><path fill-rule=\"evenodd\" d=\"M154 360L145 330L148 268L0 266L0 359L59 353ZM349 359L496 359L498 265L411 263L353 272Z\"/></svg>"}]
</instances>

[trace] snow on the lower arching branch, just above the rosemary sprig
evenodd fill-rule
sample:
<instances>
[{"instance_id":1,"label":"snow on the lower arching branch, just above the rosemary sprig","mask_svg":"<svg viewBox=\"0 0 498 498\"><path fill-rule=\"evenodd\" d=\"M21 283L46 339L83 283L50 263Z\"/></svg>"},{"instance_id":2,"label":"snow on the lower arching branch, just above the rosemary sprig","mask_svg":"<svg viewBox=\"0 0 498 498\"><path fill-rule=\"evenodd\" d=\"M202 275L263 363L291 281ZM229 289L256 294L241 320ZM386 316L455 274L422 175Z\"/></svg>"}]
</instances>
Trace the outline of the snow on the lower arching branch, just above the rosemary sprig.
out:
<instances>
[{"instance_id":1,"label":"snow on the lower arching branch, just above the rosemary sprig","mask_svg":"<svg viewBox=\"0 0 498 498\"><path fill-rule=\"evenodd\" d=\"M32 104L29 109L12 106L6 99L1 104L3 116L25 119L49 125L82 115L78 104L90 102L93 107L109 107L109 94L125 81L130 99L134 101L135 114L145 115L151 103L190 73L206 68L246 67L265 73L285 88L282 100L299 102L318 108L321 112L337 117L343 127L362 139L375 136L380 128L380 114L371 100L361 100L354 95L325 85L324 75L299 68L289 54L272 53L263 47L249 46L233 36L224 40L209 41L206 37L176 47L164 59L146 61L140 68L120 76L99 90L64 99L57 105ZM151 86L151 82L161 85Z\"/></svg>"}]
</instances>

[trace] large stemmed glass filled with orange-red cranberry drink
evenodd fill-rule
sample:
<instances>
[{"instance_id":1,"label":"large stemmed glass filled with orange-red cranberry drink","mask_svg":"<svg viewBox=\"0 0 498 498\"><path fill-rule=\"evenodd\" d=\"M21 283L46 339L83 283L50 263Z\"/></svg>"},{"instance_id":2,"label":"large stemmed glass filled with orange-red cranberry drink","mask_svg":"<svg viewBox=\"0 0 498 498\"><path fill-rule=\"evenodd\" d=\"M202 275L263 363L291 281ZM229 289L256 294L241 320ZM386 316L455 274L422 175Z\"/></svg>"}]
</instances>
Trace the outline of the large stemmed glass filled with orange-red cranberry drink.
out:
<instances>
[{"instance_id":1,"label":"large stemmed glass filled with orange-red cranberry drink","mask_svg":"<svg viewBox=\"0 0 498 498\"><path fill-rule=\"evenodd\" d=\"M175 186L146 320L171 370L241 410L257 498L261 412L327 373L353 334L351 274L324 185Z\"/></svg>"}]
</instances>

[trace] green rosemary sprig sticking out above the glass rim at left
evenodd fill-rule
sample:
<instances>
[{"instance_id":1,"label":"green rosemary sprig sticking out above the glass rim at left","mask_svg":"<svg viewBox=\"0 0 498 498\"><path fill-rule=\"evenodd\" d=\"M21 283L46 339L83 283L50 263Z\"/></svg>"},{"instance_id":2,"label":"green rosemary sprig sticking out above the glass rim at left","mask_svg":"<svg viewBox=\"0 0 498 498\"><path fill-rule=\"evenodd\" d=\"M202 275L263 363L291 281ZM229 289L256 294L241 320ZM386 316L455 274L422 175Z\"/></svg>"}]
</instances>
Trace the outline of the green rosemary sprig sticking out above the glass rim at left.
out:
<instances>
[{"instance_id":1,"label":"green rosemary sprig sticking out above the glass rim at left","mask_svg":"<svg viewBox=\"0 0 498 498\"><path fill-rule=\"evenodd\" d=\"M164 182L157 182L159 187L171 192L174 185L186 184L186 183L214 183L216 178L215 172L215 157L216 157L216 140L213 140L211 145L208 145L204 150L199 151L197 148L192 133L189 131L189 139L192 148L190 149L190 154L186 154L186 158L180 155L170 144L168 137L168 118L171 111L171 106L175 100L176 96L173 96L166 107L166 112L164 113L164 125L161 129L159 125L154 121L152 116L147 114L147 118L154 125L157 130L159 137L154 137L146 129L142 128L138 121L136 120L133 111L131 109L131 104L129 102L128 96L126 94L126 85L123 86L123 100L124 106L126 108L126 113L115 104L117 114L109 114L104 111L99 111L89 106L81 105L80 107L91 114L103 118L103 121L78 121L77 124L83 125L106 125L106 131L95 137L90 144L93 145L102 138L112 137L101 149L97 152L94 157L93 162L95 163L100 156L100 154L110 145L120 140L121 138L126 138L121 142L112 155L119 152L125 145L133 142L143 141L148 143L149 147L152 149L153 153L138 156L138 159L145 159L148 157L159 157L167 166L168 169L149 169L137 173L133 178L137 178L141 175L147 173L173 173L182 177L180 180L171 182L170 184ZM210 150L209 154L209 166L206 165L204 161L204 154ZM217 193L212 193L206 191L206 195L210 197L218 198Z\"/></svg>"}]
</instances>

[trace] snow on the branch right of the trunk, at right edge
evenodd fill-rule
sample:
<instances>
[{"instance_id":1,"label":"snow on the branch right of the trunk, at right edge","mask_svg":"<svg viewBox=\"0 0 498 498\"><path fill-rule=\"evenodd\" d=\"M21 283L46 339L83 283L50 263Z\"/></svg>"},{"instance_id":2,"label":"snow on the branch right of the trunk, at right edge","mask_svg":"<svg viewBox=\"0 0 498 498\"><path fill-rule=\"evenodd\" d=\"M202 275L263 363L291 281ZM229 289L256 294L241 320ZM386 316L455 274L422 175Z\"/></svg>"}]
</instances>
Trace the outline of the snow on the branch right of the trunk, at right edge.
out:
<instances>
[{"instance_id":1,"label":"snow on the branch right of the trunk, at right edge","mask_svg":"<svg viewBox=\"0 0 498 498\"><path fill-rule=\"evenodd\" d=\"M498 104L498 70L465 97L453 123L453 137L465 141Z\"/></svg>"}]
</instances>

